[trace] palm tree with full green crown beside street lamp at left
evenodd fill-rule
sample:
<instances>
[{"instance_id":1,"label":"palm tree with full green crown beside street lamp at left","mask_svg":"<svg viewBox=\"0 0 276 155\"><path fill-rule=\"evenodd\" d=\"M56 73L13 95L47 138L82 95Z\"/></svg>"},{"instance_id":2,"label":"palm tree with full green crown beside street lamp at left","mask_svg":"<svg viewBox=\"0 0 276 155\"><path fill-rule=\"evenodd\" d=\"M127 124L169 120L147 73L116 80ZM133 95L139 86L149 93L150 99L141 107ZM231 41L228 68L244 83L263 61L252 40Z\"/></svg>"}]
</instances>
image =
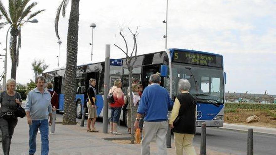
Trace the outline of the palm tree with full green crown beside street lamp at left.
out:
<instances>
[{"instance_id":1,"label":"palm tree with full green crown beside street lamp at left","mask_svg":"<svg viewBox=\"0 0 276 155\"><path fill-rule=\"evenodd\" d=\"M33 2L29 6L30 0L9 0L8 12L6 11L2 1L0 0L0 11L10 24L10 55L12 59L11 78L16 79L16 68L18 66L19 48L21 48L21 26L29 21L37 14L44 11L39 10L31 13L31 9L38 3ZM18 37L18 40L17 40Z\"/></svg>"}]
</instances>

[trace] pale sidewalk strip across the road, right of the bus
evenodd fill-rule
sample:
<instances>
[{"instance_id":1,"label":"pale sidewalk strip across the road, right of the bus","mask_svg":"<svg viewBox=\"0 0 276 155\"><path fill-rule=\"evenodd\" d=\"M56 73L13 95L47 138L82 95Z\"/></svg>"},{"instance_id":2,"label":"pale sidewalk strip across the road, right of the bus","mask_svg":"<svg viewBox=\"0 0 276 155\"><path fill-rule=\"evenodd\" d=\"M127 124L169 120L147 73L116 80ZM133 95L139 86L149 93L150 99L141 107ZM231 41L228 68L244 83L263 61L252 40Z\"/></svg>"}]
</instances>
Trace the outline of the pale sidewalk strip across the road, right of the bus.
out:
<instances>
[{"instance_id":1,"label":"pale sidewalk strip across the road, right of the bus","mask_svg":"<svg viewBox=\"0 0 276 155\"><path fill-rule=\"evenodd\" d=\"M270 134L276 136L276 128L268 128L268 127L255 127L255 126L247 126L247 125L238 125L238 124L228 124L224 123L221 129L228 129L228 130L238 130L238 131L246 131L252 128L253 132L261 133L261 134Z\"/></svg>"}]
</instances>

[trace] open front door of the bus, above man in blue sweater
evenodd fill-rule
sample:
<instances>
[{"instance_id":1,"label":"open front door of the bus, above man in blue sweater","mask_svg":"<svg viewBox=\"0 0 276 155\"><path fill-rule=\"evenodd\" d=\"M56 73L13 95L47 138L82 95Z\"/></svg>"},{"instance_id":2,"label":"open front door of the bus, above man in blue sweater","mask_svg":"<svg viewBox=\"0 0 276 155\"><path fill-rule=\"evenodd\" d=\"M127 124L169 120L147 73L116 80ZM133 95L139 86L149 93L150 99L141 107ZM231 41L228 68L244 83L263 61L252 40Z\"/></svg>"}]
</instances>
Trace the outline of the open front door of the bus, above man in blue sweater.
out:
<instances>
[{"instance_id":1,"label":"open front door of the bus, above man in blue sweater","mask_svg":"<svg viewBox=\"0 0 276 155\"><path fill-rule=\"evenodd\" d=\"M156 74L157 72L160 73L160 69L161 69L161 64L156 64L156 65L146 65L142 67L142 79L141 79L141 83L144 87L144 89L146 88L146 86L149 85L149 80L150 80L150 76L152 74ZM164 83L164 79L161 78L161 86L163 86Z\"/></svg>"}]
</instances>

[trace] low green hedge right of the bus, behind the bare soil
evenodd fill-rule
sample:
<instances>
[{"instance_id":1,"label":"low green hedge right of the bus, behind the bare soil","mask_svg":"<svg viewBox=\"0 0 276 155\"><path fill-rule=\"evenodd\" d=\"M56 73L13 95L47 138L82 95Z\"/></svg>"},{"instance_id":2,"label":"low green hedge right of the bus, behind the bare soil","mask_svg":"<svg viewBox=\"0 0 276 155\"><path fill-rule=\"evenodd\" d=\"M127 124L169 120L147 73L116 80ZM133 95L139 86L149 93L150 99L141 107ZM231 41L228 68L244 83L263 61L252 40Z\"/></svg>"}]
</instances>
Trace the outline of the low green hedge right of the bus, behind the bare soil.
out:
<instances>
[{"instance_id":1,"label":"low green hedge right of the bus, behind the bare soil","mask_svg":"<svg viewBox=\"0 0 276 155\"><path fill-rule=\"evenodd\" d=\"M252 110L276 110L276 104L253 104L253 103L226 103L225 108L252 109Z\"/></svg>"}]
</instances>

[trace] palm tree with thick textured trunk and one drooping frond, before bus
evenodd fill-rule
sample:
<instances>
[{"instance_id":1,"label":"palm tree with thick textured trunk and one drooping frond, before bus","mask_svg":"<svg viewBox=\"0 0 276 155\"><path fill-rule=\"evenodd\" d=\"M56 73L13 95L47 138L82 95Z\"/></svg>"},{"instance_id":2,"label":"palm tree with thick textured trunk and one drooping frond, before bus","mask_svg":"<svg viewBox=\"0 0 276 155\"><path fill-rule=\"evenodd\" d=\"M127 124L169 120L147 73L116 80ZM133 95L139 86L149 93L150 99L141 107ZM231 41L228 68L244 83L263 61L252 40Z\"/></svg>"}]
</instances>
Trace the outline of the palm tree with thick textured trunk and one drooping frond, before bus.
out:
<instances>
[{"instance_id":1,"label":"palm tree with thick textured trunk and one drooping frond, before bus","mask_svg":"<svg viewBox=\"0 0 276 155\"><path fill-rule=\"evenodd\" d=\"M76 104L75 90L76 88L76 71L77 71L77 46L78 46L78 30L79 30L79 3L80 0L62 0L57 9L55 19L56 36L60 40L58 34L58 22L62 10L62 16L65 18L66 6L71 2L71 12L67 33L67 54L66 54L66 71L65 71L65 101L64 114L62 124L76 124Z\"/></svg>"}]
</instances>

